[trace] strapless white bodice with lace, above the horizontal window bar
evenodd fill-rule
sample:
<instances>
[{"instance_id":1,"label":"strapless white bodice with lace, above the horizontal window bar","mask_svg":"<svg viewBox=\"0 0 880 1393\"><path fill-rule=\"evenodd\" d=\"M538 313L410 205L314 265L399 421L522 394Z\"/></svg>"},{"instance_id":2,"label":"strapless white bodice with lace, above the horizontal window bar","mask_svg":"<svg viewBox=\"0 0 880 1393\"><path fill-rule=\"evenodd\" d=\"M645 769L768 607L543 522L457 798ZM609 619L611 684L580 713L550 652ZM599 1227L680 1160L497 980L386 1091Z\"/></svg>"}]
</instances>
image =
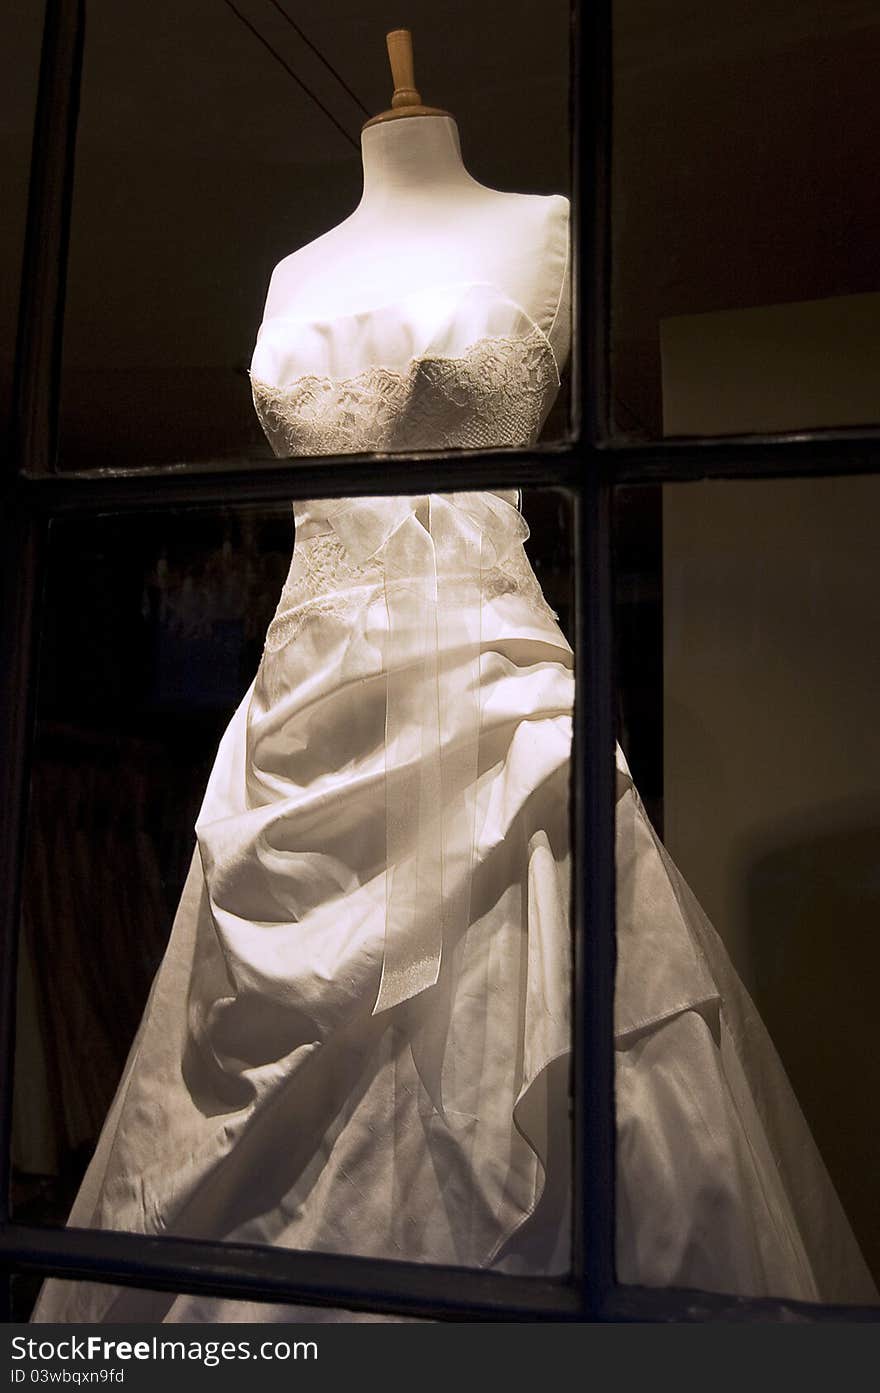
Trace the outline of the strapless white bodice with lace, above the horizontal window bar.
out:
<instances>
[{"instance_id":1,"label":"strapless white bodice with lace, above the horizontal window bar","mask_svg":"<svg viewBox=\"0 0 880 1393\"><path fill-rule=\"evenodd\" d=\"M549 334L494 286L327 320L265 320L253 405L278 457L535 444L560 387Z\"/></svg>"}]
</instances>

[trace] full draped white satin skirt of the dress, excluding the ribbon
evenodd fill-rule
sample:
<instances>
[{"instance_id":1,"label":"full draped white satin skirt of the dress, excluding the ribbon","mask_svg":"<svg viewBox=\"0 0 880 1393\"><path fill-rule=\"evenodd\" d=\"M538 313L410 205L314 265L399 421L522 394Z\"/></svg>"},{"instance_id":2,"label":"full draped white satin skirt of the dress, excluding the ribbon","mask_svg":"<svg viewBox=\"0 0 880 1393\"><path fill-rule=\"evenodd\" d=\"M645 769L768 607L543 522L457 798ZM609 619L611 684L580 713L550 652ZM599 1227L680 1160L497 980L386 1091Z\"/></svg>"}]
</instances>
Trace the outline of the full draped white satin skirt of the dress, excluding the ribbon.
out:
<instances>
[{"instance_id":1,"label":"full draped white satin skirt of the dress, excluding the ribbon","mask_svg":"<svg viewBox=\"0 0 880 1393\"><path fill-rule=\"evenodd\" d=\"M434 985L376 1010L386 624L373 596L356 624L316 612L267 642L71 1226L567 1269L571 649L550 610L485 600L468 912ZM620 751L617 876L618 1279L876 1300L766 1031ZM57 1279L32 1315L327 1319L382 1318Z\"/></svg>"}]
</instances>

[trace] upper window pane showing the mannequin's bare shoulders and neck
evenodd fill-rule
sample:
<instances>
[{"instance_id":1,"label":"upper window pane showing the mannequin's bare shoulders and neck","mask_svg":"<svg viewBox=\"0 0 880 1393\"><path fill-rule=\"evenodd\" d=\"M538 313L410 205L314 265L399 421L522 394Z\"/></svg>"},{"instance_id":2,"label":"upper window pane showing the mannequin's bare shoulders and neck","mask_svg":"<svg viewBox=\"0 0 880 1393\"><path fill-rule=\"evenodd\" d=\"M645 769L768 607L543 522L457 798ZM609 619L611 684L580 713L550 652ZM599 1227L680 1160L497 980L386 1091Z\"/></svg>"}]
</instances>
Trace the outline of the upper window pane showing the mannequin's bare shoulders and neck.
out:
<instances>
[{"instance_id":1,"label":"upper window pane showing the mannequin's bare shoulders and neck","mask_svg":"<svg viewBox=\"0 0 880 1393\"><path fill-rule=\"evenodd\" d=\"M564 433L567 3L501 26L411 6L425 100L454 118L373 125L363 171L383 7L315 11L305 36L248 20L89 7L61 468Z\"/></svg>"}]
</instances>

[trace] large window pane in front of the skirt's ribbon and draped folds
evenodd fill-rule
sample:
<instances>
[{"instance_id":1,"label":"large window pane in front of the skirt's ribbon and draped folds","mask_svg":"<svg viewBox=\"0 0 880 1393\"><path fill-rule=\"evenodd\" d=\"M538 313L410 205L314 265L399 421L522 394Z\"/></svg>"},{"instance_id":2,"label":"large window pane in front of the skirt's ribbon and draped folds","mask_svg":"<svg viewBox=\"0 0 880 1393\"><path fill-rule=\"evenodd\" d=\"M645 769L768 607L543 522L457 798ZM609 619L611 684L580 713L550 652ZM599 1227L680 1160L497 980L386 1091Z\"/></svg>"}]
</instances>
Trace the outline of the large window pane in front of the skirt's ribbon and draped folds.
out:
<instances>
[{"instance_id":1,"label":"large window pane in front of the skirt's ribbon and draped folds","mask_svg":"<svg viewBox=\"0 0 880 1393\"><path fill-rule=\"evenodd\" d=\"M564 1270L568 500L295 524L52 529L15 1216Z\"/></svg>"}]
</instances>

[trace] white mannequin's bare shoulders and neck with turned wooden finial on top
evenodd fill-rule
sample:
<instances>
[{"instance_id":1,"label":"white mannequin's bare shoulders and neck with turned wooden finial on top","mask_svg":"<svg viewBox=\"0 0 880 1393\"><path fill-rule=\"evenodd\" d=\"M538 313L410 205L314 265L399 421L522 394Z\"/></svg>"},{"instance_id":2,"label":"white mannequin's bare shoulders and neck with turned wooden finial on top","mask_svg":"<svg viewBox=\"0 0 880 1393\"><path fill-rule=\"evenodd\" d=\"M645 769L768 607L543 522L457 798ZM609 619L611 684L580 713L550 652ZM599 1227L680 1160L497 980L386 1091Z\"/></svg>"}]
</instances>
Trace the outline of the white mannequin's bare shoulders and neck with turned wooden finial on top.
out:
<instances>
[{"instance_id":1,"label":"white mannequin's bare shoulders and neck with turned wooden finial on top","mask_svg":"<svg viewBox=\"0 0 880 1393\"><path fill-rule=\"evenodd\" d=\"M407 31L388 35L388 52L395 77L405 77L411 47L404 45L401 71L400 35L409 39ZM544 330L561 369L571 340L568 199L479 184L462 163L453 117L422 107L411 84L397 88L416 100L366 123L361 202L278 262L263 323L334 319L418 291L490 283ZM259 343L252 368L258 376L272 371Z\"/></svg>"}]
</instances>

